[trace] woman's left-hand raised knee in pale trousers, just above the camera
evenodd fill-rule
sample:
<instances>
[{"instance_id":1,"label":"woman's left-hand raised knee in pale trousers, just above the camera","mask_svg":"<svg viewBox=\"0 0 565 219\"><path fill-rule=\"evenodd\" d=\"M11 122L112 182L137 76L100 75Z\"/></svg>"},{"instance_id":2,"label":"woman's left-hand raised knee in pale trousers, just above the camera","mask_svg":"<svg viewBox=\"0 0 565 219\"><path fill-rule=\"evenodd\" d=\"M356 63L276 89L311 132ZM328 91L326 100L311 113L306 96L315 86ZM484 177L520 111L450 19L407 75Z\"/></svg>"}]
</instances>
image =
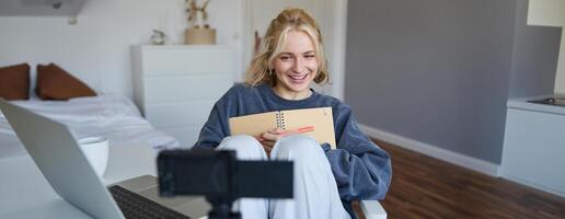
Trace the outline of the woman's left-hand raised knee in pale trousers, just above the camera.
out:
<instances>
[{"instance_id":1,"label":"woman's left-hand raised knee in pale trousers, just above the camera","mask_svg":"<svg viewBox=\"0 0 565 219\"><path fill-rule=\"evenodd\" d=\"M261 143L252 136L237 135L226 137L218 150L234 150L240 160L264 160L266 153Z\"/></svg>"}]
</instances>

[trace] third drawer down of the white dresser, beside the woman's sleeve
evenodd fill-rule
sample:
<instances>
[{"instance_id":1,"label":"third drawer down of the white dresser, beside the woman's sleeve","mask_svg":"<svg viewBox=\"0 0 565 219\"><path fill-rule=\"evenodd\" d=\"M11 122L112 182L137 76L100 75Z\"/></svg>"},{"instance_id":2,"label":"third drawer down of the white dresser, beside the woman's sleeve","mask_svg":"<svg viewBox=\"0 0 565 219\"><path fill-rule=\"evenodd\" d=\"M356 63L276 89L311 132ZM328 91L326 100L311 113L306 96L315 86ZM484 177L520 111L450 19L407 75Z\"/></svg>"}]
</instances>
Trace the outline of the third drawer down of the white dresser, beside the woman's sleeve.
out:
<instances>
[{"instance_id":1,"label":"third drawer down of the white dresser, beside the woman's sleeve","mask_svg":"<svg viewBox=\"0 0 565 219\"><path fill-rule=\"evenodd\" d=\"M145 116L155 127L203 126L216 101L152 104Z\"/></svg>"}]
</instances>

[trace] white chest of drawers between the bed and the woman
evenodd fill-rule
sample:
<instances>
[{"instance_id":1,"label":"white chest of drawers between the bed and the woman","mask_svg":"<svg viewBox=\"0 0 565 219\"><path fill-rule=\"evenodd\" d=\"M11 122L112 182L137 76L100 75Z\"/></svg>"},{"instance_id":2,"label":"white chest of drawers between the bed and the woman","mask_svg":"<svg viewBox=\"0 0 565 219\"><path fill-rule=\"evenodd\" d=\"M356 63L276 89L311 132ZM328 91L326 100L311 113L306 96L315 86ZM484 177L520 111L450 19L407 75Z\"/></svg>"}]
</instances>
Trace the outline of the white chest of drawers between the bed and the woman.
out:
<instances>
[{"instance_id":1,"label":"white chest of drawers between the bed and the woman","mask_svg":"<svg viewBox=\"0 0 565 219\"><path fill-rule=\"evenodd\" d=\"M132 47L134 95L143 116L181 145L193 146L214 103L233 84L227 46Z\"/></svg>"}]
</instances>

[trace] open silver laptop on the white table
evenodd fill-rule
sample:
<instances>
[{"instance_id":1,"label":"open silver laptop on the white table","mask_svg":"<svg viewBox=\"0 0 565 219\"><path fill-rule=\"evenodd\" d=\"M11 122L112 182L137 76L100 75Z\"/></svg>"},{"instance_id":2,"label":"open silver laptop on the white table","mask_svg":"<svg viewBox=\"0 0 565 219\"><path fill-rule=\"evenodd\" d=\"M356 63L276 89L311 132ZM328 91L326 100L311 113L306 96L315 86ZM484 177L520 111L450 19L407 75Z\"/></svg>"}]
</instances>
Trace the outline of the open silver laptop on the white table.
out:
<instances>
[{"instance_id":1,"label":"open silver laptop on the white table","mask_svg":"<svg viewBox=\"0 0 565 219\"><path fill-rule=\"evenodd\" d=\"M93 218L203 218L204 197L160 198L154 176L104 186L69 128L0 99L0 110L53 189Z\"/></svg>"}]
</instances>

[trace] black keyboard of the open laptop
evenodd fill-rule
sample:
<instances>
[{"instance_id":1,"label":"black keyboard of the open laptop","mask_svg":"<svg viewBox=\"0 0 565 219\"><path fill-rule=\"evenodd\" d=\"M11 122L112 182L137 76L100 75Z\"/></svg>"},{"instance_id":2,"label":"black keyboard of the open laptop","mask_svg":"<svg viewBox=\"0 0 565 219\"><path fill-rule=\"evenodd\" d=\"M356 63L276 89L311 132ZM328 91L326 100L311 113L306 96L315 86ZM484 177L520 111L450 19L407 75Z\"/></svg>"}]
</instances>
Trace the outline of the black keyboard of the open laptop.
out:
<instances>
[{"instance_id":1,"label":"black keyboard of the open laptop","mask_svg":"<svg viewBox=\"0 0 565 219\"><path fill-rule=\"evenodd\" d=\"M128 219L189 219L188 216L181 215L173 209L164 207L122 186L114 185L108 187L108 191L116 200L124 216Z\"/></svg>"}]
</instances>

